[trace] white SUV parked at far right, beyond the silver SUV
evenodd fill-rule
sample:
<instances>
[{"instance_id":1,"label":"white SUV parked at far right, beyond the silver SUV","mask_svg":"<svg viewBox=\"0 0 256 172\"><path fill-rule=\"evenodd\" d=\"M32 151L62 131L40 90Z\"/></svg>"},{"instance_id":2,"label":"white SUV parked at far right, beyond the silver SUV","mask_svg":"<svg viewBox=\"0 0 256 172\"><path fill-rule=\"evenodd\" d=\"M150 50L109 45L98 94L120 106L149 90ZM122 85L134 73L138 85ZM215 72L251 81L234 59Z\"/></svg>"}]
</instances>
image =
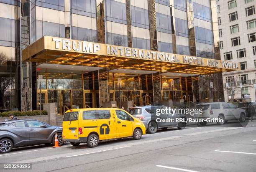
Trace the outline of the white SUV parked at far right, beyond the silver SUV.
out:
<instances>
[{"instance_id":1,"label":"white SUV parked at far right, beyond the silver SUV","mask_svg":"<svg viewBox=\"0 0 256 172\"><path fill-rule=\"evenodd\" d=\"M194 119L205 119L201 122L201 125L206 125L206 119L223 119L218 122L219 125L227 123L229 120L239 120L244 122L246 120L246 111L244 109L236 107L234 104L227 102L215 102L215 103L204 103L197 104L196 109L202 109L202 114L197 113Z\"/></svg>"}]
</instances>

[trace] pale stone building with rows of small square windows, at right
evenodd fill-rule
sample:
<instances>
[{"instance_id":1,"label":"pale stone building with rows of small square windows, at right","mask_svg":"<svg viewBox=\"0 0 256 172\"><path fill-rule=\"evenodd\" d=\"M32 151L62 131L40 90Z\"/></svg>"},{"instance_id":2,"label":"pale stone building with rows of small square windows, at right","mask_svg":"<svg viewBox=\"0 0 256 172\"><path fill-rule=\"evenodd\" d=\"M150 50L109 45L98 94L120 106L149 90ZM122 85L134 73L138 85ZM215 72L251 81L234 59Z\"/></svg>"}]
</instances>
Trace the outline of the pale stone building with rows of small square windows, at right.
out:
<instances>
[{"instance_id":1,"label":"pale stone building with rows of small square windows, at right","mask_svg":"<svg viewBox=\"0 0 256 172\"><path fill-rule=\"evenodd\" d=\"M256 100L256 1L217 0L221 60L241 71L223 73L225 101Z\"/></svg>"}]
</instances>

